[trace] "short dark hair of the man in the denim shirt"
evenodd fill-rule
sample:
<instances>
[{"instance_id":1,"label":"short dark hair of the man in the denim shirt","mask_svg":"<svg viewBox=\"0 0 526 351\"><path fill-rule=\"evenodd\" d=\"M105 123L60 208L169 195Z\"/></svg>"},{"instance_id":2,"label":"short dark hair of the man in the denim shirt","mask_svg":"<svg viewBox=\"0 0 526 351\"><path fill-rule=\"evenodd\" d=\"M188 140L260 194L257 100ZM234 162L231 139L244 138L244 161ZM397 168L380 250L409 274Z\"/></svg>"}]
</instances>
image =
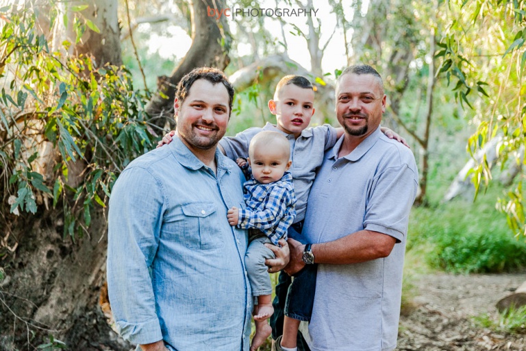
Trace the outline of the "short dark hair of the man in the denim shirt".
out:
<instances>
[{"instance_id":1,"label":"short dark hair of the man in the denim shirt","mask_svg":"<svg viewBox=\"0 0 526 351\"><path fill-rule=\"evenodd\" d=\"M179 104L183 104L184 99L188 96L188 92L196 80L208 80L208 82L214 85L218 83L223 84L228 92L229 114L232 112L234 86L228 81L228 78L223 71L212 67L199 67L197 69L192 69L192 71L186 73L186 75L181 78L179 84L177 84L177 89L175 90L175 98L179 101Z\"/></svg>"}]
</instances>

